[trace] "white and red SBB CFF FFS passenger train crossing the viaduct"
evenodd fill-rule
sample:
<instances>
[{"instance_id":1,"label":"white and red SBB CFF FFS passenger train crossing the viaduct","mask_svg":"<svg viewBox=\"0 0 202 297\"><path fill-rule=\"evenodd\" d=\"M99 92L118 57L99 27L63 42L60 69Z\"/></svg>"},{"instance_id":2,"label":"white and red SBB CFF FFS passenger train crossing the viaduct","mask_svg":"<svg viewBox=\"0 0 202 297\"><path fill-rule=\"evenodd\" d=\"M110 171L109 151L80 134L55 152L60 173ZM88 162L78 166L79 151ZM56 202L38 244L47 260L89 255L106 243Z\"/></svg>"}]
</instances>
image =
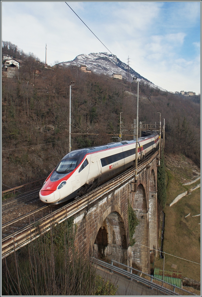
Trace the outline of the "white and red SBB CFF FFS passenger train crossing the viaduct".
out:
<instances>
[{"instance_id":1,"label":"white and red SBB CFF FFS passenger train crossing the viaduct","mask_svg":"<svg viewBox=\"0 0 202 297\"><path fill-rule=\"evenodd\" d=\"M138 138L138 160L157 148L158 133ZM44 203L58 204L79 197L133 165L136 139L108 143L68 153L50 173L39 192Z\"/></svg>"}]
</instances>

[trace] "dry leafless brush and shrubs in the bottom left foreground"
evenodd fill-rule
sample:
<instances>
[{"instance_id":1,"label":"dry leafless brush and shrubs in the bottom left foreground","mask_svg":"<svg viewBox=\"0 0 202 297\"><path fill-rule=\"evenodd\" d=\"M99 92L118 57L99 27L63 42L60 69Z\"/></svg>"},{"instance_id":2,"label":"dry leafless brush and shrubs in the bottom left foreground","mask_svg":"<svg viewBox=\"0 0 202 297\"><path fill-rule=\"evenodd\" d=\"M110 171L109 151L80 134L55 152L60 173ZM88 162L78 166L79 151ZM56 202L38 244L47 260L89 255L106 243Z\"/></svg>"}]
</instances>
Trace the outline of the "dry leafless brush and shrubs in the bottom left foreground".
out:
<instances>
[{"instance_id":1,"label":"dry leafless brush and shrubs in the bottom left foreground","mask_svg":"<svg viewBox=\"0 0 202 297\"><path fill-rule=\"evenodd\" d=\"M96 274L74 249L73 219L4 259L3 295L114 295L117 286Z\"/></svg>"}]
</instances>

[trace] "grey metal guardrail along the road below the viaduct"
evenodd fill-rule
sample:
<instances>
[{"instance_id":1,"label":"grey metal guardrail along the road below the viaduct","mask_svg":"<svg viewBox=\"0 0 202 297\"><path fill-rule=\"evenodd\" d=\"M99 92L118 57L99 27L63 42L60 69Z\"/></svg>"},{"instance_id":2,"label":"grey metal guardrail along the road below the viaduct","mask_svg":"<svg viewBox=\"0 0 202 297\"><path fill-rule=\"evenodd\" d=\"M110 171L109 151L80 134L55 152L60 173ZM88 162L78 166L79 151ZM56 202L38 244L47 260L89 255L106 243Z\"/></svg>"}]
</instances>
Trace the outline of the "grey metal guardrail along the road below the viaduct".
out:
<instances>
[{"instance_id":1,"label":"grey metal guardrail along the road below the viaduct","mask_svg":"<svg viewBox=\"0 0 202 297\"><path fill-rule=\"evenodd\" d=\"M156 278L156 277L153 277L152 275L149 275L149 274L147 274L147 273L144 273L144 272L142 272L142 271L139 271L139 270L137 270L137 269L135 269L135 268L132 268L132 267L130 267L130 266L127 266L127 265L125 265L125 264L119 263L119 262L117 262L117 261L115 261L115 260L113 260L113 259L111 260L111 263L112 263L112 264L109 264L109 263L106 263L106 262L104 262L104 261L98 260L98 259L96 259L95 257L91 257L91 261L94 262L94 263L96 263L96 264L99 265L99 266L102 266L102 267L105 267L106 269L109 269L110 271L114 271L114 272L117 272L117 273L119 273L119 274L122 274L122 275L124 275L124 276L130 278L131 280L134 279L134 280L136 280L137 282L139 282L139 283L141 283L141 284L143 284L143 285L148 286L151 290L152 290L152 289L155 289L155 290L157 290L158 292L161 292L161 293L163 293L163 294L175 295L175 296L182 295L182 294L178 294L178 293L175 292L175 289L177 288L177 289L181 290L181 291L184 292L184 293L188 293L189 295L197 296L197 295L194 294L194 293L191 293L191 292L189 292L189 291L187 291L187 290L184 290L184 289L182 289L182 288L176 287L175 285L172 285L172 284L170 284L170 283L168 283L168 282L165 282L165 281L163 281L163 280L160 280L160 279L158 279L158 278ZM113 263L117 263L118 265L121 265L121 266L127 268L130 272L127 271L127 270L124 270L124 269L122 269L122 268L119 268L119 267L117 267L117 266L114 266ZM150 277L151 280L149 281L148 279L145 279L145 278L140 277L140 276L138 276L138 275L136 275L136 274L133 274L133 273L132 273L133 270L138 271L138 273L140 273L140 274L144 274L144 275ZM173 290L170 290L170 289L168 289L168 288L166 288L166 287L163 287L162 285L159 285L158 283L153 282L153 280L158 281L158 282L161 282L161 283L163 283L163 284L166 285L166 286L171 286L171 287L173 287Z\"/></svg>"}]
</instances>

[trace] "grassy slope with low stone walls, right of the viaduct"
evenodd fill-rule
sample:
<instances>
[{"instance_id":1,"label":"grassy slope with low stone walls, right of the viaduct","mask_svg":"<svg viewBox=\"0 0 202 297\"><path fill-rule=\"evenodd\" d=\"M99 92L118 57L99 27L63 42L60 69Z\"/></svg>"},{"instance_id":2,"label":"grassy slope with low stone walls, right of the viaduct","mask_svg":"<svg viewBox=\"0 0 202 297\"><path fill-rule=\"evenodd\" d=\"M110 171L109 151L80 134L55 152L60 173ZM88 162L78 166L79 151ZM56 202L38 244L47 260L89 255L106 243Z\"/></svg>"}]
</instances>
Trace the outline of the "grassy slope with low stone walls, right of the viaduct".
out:
<instances>
[{"instance_id":1,"label":"grassy slope with low stone walls, right of the viaduct","mask_svg":"<svg viewBox=\"0 0 202 297\"><path fill-rule=\"evenodd\" d=\"M163 251L170 254L165 256L165 269L181 271L182 277L200 281L201 266L196 263L201 261L201 216L197 216L201 213L201 188L194 190L177 203L169 206L177 195L200 184L200 180L195 181L200 176L200 170L193 161L181 154L165 155L165 168L167 200L164 208ZM195 182L184 185L190 181ZM159 245L160 238L159 233ZM176 265L176 268L173 268L173 264ZM154 267L162 269L163 259L155 260Z\"/></svg>"}]
</instances>

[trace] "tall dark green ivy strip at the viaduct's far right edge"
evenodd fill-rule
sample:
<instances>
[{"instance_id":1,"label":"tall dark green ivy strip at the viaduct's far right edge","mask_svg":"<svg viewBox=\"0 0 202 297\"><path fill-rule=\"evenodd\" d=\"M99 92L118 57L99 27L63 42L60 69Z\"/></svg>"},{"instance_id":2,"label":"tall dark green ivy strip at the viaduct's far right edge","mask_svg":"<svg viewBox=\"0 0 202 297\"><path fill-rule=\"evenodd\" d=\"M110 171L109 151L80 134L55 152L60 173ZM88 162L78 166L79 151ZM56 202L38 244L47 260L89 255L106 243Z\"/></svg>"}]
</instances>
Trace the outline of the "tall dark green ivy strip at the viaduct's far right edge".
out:
<instances>
[{"instance_id":1,"label":"tall dark green ivy strip at the viaduct's far right edge","mask_svg":"<svg viewBox=\"0 0 202 297\"><path fill-rule=\"evenodd\" d=\"M162 159L160 160L160 166L157 170L157 199L160 203L160 206L164 208L166 206L166 171L163 151Z\"/></svg>"}]
</instances>

